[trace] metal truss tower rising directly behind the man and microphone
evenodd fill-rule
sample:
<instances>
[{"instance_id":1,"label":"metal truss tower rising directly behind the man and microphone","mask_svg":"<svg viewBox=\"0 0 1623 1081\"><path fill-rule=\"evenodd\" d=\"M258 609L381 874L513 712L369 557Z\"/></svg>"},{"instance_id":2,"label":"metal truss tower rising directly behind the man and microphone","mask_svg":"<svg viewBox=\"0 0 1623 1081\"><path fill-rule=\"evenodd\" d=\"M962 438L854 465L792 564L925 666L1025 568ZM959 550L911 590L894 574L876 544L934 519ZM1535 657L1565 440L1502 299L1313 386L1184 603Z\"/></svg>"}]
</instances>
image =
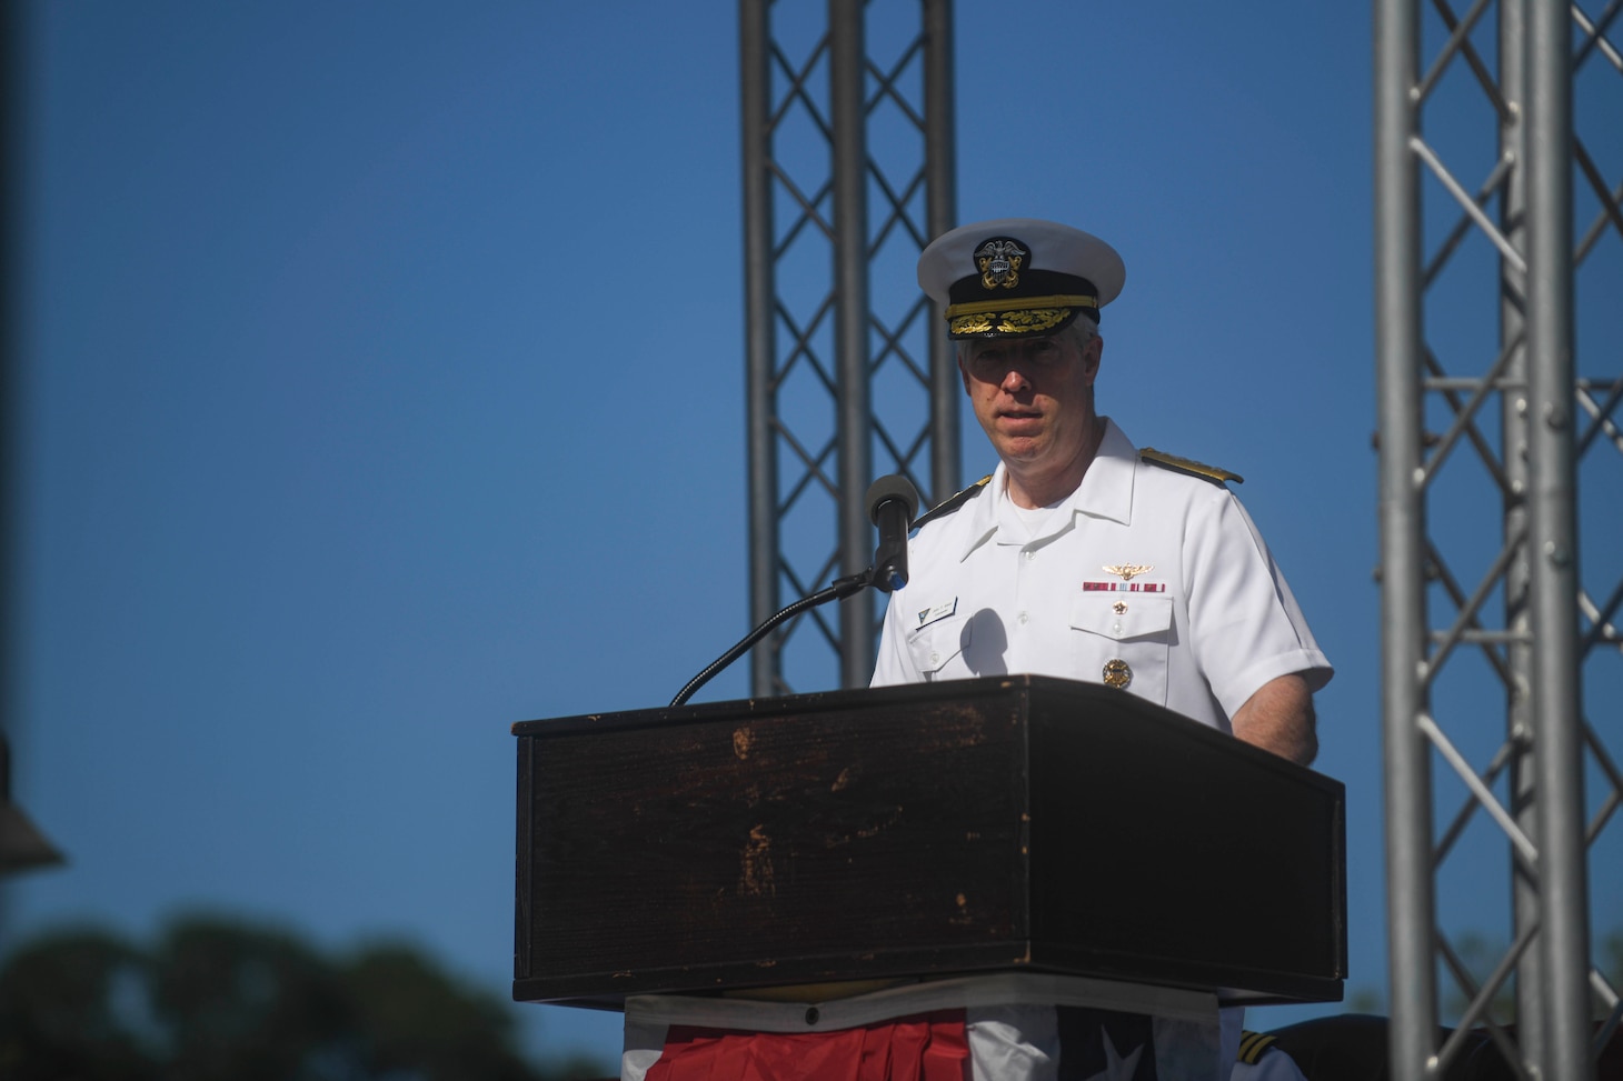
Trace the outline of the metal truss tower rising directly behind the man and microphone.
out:
<instances>
[{"instance_id":1,"label":"metal truss tower rising directly behind the man and microphone","mask_svg":"<svg viewBox=\"0 0 1623 1081\"><path fill-rule=\"evenodd\" d=\"M958 489L956 368L914 263L954 224L951 0L740 0L750 622L863 570L876 474ZM928 471L928 476L923 476ZM751 654L865 685L872 591Z\"/></svg>"}]
</instances>

